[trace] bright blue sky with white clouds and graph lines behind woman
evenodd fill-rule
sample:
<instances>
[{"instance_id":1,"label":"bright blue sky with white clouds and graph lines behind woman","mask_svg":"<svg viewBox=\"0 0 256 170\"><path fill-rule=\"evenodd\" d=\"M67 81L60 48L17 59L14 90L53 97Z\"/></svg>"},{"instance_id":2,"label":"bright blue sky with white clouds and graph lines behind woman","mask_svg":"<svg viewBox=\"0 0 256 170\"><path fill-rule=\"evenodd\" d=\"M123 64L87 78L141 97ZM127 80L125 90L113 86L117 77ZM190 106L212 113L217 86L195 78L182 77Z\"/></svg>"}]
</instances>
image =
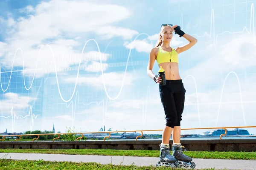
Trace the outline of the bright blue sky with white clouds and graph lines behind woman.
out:
<instances>
[{"instance_id":1,"label":"bright blue sky with white clouds and graph lines behind woman","mask_svg":"<svg viewBox=\"0 0 256 170\"><path fill-rule=\"evenodd\" d=\"M158 85L146 72L163 23L198 40L179 54L186 89L181 128L255 125L255 4L0 1L0 132L52 130L53 124L62 133L68 127L163 129ZM186 43L174 34L171 46ZM155 62L154 74L158 69ZM256 128L247 130L256 134Z\"/></svg>"}]
</instances>

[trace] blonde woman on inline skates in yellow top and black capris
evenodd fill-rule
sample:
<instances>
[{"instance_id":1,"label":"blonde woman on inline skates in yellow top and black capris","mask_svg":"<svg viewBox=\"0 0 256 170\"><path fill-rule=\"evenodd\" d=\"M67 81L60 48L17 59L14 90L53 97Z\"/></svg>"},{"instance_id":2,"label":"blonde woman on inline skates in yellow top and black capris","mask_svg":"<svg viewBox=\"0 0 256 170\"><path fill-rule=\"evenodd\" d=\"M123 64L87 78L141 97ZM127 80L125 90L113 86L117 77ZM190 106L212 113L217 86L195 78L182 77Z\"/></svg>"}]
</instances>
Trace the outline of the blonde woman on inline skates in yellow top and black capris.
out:
<instances>
[{"instance_id":1,"label":"blonde woman on inline skates in yellow top and black capris","mask_svg":"<svg viewBox=\"0 0 256 170\"><path fill-rule=\"evenodd\" d=\"M189 41L188 44L177 47L176 49L170 47L173 31L180 37L184 37ZM159 92L161 102L166 115L166 126L163 129L163 139L160 144L160 165L161 163L168 162L170 166L178 160L183 161L183 164L187 163L187 166L191 164L189 162L192 159L182 153L182 146L180 144L180 121L181 114L184 108L185 101L185 88L180 78L178 70L178 54L188 50L195 45L197 40L180 30L180 26L172 26L172 24L162 24L159 34L159 40L156 47L151 49L147 74L156 83L160 83L162 79L154 75L152 69L155 60L157 60L158 66L162 67L165 71L166 85L159 85ZM170 155L169 140L172 134L173 139L173 154ZM177 159L177 160L176 160ZM172 164L172 165L171 165Z\"/></svg>"}]
</instances>

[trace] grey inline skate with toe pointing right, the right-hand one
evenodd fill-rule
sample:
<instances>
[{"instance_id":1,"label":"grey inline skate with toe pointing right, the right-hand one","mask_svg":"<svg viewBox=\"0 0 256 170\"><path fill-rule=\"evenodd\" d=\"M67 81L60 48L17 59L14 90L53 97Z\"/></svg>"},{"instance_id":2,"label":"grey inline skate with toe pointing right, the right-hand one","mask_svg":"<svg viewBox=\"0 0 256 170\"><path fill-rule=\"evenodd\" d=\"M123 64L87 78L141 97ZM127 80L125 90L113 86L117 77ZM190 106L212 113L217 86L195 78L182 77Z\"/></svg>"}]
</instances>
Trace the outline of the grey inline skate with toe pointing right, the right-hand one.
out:
<instances>
[{"instance_id":1,"label":"grey inline skate with toe pointing right, the right-hand one","mask_svg":"<svg viewBox=\"0 0 256 170\"><path fill-rule=\"evenodd\" d=\"M174 156L177 159L177 164L178 167L182 168L195 168L195 163L192 162L192 158L190 158L189 156L186 156L182 150L185 150L183 146L181 146L181 144L177 145L177 144L172 144L172 156Z\"/></svg>"}]
</instances>

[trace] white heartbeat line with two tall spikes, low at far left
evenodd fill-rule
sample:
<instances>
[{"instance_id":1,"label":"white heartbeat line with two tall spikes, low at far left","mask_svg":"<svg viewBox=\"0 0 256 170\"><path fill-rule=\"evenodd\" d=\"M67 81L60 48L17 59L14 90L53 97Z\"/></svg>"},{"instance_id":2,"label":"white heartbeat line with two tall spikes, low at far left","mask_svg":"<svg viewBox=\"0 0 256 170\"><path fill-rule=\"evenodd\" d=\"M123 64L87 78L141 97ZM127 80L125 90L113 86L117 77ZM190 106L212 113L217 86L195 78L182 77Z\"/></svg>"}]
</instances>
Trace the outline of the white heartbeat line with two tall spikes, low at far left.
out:
<instances>
[{"instance_id":1,"label":"white heartbeat line with two tall spikes, low at far left","mask_svg":"<svg viewBox=\"0 0 256 170\"><path fill-rule=\"evenodd\" d=\"M26 116L22 116L22 115L16 115L13 111L13 107L12 107L12 110L11 110L11 115L10 116L0 116L0 117L3 117L3 118L9 118L9 117L12 117L12 132L14 132L14 127L15 127L15 118L18 119L19 117L21 118L26 118L30 116L30 131L32 131L32 128L33 128L33 121L34 121L34 117L35 119L37 118L37 116L40 116L40 114L38 115L35 115L34 113L32 113L32 106L29 107L29 114L26 115Z\"/></svg>"}]
</instances>

